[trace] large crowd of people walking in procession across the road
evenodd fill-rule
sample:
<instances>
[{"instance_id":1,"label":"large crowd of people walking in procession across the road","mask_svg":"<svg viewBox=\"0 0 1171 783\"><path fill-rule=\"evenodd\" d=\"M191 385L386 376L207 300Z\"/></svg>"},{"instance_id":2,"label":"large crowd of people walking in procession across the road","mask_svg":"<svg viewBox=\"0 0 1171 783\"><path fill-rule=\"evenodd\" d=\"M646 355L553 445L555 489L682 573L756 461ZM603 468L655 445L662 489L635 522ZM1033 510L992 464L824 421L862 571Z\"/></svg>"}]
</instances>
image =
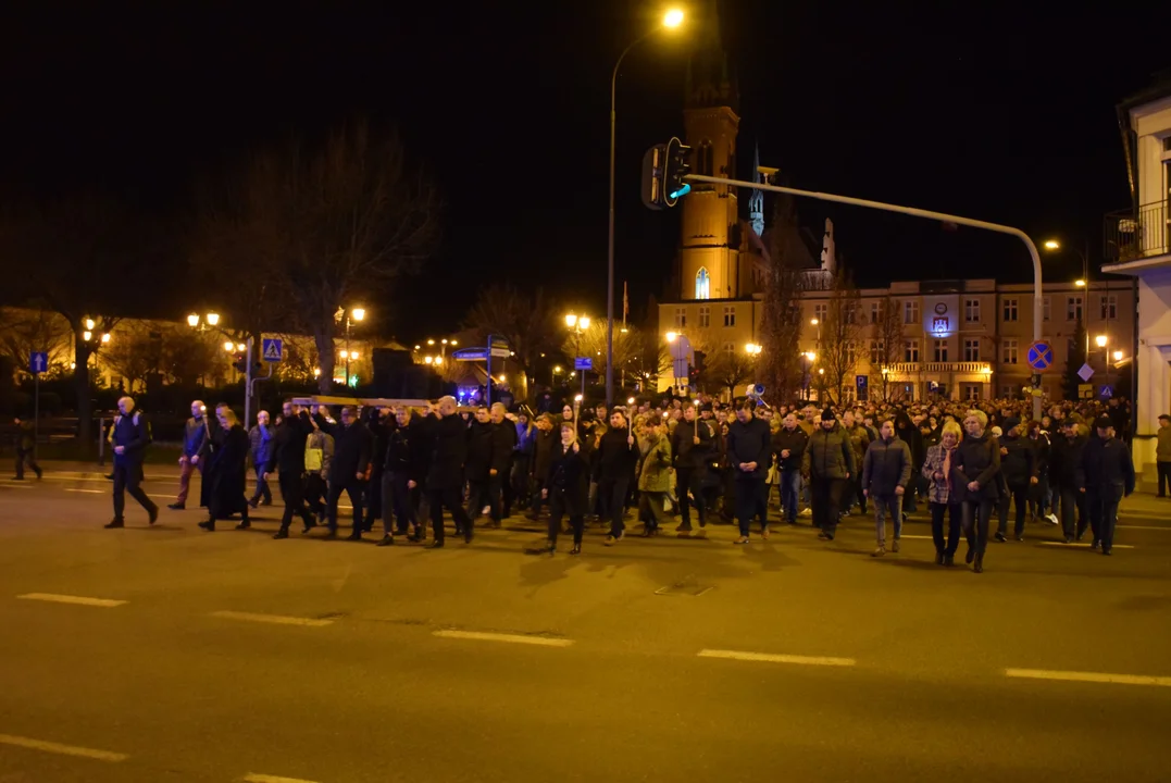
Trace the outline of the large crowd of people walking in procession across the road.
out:
<instances>
[{"instance_id":1,"label":"large crowd of people walking in procession across the road","mask_svg":"<svg viewBox=\"0 0 1171 783\"><path fill-rule=\"evenodd\" d=\"M323 526L336 537L345 495L350 540L381 521L379 545L405 538L440 548L446 510L456 535L470 543L478 523L499 527L523 511L547 521L545 541L529 552L554 552L568 524L570 552L580 554L588 524L605 526L604 543L615 545L631 515L644 537L676 516L674 530L692 534L694 516L700 528L713 520L737 524L735 544L747 544L754 526L768 538L775 489L779 517L793 526L808 518L826 542L844 516L872 509L876 557L899 551L903 523L922 502L939 565L953 564L963 537L965 562L981 572L989 534L994 542L1022 541L1029 518L1061 526L1067 543L1089 530L1093 548L1110 555L1118 503L1135 489L1125 404L1054 404L1040 420L1022 418L1026 405L938 400L819 410L669 394L612 410L566 404L534 413L501 403L460 408L444 397L425 408L345 406L335 420L324 405L286 401L275 421L261 411L246 431L226 404L210 415L197 400L170 508L186 508L199 472L199 504L207 509L199 524L208 531L238 515L237 527L248 528L249 509L272 502L275 481L283 514L274 538L287 538L294 518L302 533ZM153 523L158 509L139 488L149 427L130 398L118 408L110 433L115 518L107 527L123 527L124 493ZM1160 461L1171 448L1171 418L1162 424Z\"/></svg>"}]
</instances>

